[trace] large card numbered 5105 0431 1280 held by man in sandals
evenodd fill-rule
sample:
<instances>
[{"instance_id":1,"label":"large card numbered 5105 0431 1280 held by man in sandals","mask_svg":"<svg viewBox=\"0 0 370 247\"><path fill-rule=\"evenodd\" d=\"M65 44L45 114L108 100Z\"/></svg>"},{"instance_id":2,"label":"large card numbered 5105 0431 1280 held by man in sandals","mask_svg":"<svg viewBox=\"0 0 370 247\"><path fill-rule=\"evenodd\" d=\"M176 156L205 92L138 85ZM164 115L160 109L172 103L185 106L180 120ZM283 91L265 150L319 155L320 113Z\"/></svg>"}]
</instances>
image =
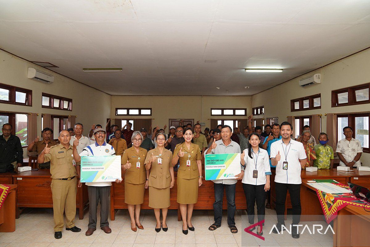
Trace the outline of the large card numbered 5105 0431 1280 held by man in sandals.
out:
<instances>
[{"instance_id":1,"label":"large card numbered 5105 0431 1280 held by man in sandals","mask_svg":"<svg viewBox=\"0 0 370 247\"><path fill-rule=\"evenodd\" d=\"M240 153L205 155L206 180L235 178L240 171Z\"/></svg>"}]
</instances>

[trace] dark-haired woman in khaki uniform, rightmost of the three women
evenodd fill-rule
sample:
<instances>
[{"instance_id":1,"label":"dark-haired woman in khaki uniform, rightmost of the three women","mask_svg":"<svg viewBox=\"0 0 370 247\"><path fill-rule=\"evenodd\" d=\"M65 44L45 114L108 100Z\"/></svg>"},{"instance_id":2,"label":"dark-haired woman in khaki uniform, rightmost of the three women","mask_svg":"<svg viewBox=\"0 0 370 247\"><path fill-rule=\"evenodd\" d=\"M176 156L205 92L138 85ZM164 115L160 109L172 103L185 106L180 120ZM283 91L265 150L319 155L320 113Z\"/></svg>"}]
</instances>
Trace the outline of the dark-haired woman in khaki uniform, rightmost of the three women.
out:
<instances>
[{"instance_id":1,"label":"dark-haired woman in khaki uniform, rightmost of the three women","mask_svg":"<svg viewBox=\"0 0 370 247\"><path fill-rule=\"evenodd\" d=\"M185 142L176 145L172 165L180 160L177 171L177 202L180 204L182 233L188 234L188 228L194 231L191 223L194 204L198 201L198 187L202 182L202 157L199 146L192 143L193 130L185 128ZM185 228L185 230L184 230Z\"/></svg>"}]
</instances>

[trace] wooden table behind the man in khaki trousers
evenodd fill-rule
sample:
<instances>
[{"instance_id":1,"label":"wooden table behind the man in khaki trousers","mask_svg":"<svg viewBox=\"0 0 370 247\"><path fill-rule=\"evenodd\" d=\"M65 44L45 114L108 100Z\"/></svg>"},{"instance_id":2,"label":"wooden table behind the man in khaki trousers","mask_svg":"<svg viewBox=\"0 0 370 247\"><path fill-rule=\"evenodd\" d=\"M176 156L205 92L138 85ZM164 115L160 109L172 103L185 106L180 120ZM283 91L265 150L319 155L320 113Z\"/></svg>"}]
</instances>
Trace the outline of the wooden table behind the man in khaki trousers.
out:
<instances>
[{"instance_id":1,"label":"wooden table behind the man in khaki trousers","mask_svg":"<svg viewBox=\"0 0 370 247\"><path fill-rule=\"evenodd\" d=\"M18 185L17 217L19 217L20 208L22 207L53 207L50 176L49 169L13 174L14 184ZM84 210L87 208L87 204L87 186L84 184L83 187L77 188L76 207L79 210L80 220L84 218Z\"/></svg>"}]
</instances>

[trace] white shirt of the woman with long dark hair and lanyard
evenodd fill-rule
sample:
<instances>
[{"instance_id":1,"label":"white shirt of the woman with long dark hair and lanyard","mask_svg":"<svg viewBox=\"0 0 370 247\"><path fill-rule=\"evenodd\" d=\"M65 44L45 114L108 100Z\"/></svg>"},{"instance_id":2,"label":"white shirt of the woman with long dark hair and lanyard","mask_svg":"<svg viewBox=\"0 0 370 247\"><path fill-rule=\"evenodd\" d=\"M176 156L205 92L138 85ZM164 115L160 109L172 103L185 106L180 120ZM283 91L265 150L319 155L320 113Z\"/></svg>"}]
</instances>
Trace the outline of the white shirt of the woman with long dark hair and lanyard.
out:
<instances>
[{"instance_id":1,"label":"white shirt of the woman with long dark hair and lanyard","mask_svg":"<svg viewBox=\"0 0 370 247\"><path fill-rule=\"evenodd\" d=\"M250 158L248 155L248 148L244 150L244 177L243 184L261 185L266 184L266 175L271 175L269 154L265 149L259 148L258 153L253 150ZM257 178L253 178L253 170L257 170Z\"/></svg>"}]
</instances>

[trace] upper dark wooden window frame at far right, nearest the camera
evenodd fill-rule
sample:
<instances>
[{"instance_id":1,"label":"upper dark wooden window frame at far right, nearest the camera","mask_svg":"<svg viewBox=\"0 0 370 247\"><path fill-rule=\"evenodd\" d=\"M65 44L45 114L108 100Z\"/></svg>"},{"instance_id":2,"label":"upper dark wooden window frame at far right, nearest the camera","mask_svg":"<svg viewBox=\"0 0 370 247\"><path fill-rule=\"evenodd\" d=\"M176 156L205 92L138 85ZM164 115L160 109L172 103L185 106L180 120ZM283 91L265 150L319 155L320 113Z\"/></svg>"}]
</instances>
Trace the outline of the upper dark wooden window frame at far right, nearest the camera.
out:
<instances>
[{"instance_id":1,"label":"upper dark wooden window frame at far right, nearest the camera","mask_svg":"<svg viewBox=\"0 0 370 247\"><path fill-rule=\"evenodd\" d=\"M332 107L338 106L353 106L359 104L369 104L369 100L356 101L356 90L369 89L370 92L370 83L365 83L353 87L346 87L342 89L337 89L332 91ZM347 103L338 103L338 94L348 92L348 102Z\"/></svg>"}]
</instances>

